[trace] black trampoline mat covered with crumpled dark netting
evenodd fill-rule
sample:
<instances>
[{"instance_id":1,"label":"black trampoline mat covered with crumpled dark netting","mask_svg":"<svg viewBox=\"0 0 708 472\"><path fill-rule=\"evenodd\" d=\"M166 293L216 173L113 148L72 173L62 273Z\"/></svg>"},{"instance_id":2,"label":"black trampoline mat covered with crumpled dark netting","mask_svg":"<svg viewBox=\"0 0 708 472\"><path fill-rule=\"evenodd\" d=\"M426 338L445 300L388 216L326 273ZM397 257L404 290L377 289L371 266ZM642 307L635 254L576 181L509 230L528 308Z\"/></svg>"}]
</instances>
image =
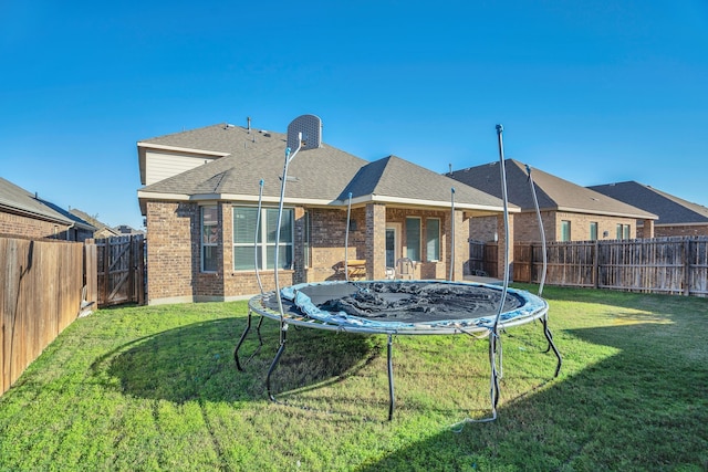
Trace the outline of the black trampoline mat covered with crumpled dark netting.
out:
<instances>
[{"instance_id":1,"label":"black trampoline mat covered with crumpled dark netting","mask_svg":"<svg viewBox=\"0 0 708 472\"><path fill-rule=\"evenodd\" d=\"M497 315L501 300L501 287L449 282L301 284L282 293L283 308L290 313L300 312L314 318L324 314L395 324L489 319ZM274 305L273 302L277 301L270 304ZM509 291L503 312L516 312L524 303L520 294ZM277 306L271 308L277 310Z\"/></svg>"}]
</instances>

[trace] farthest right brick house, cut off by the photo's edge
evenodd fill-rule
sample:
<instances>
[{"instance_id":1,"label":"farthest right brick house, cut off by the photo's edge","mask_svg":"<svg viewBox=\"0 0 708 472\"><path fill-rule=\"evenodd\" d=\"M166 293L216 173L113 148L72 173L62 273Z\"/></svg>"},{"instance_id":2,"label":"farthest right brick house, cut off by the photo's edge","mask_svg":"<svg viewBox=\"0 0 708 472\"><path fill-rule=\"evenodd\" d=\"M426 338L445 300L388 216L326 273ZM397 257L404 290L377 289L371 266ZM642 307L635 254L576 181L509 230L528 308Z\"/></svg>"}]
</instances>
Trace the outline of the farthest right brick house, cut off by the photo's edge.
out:
<instances>
[{"instance_id":1,"label":"farthest right brick house, cut off by the photo's edge","mask_svg":"<svg viewBox=\"0 0 708 472\"><path fill-rule=\"evenodd\" d=\"M708 208L636 181L592 186L590 189L616 200L650 211L659 218L654 222L654 237L708 235ZM644 238L644 228L637 228ZM647 235L646 238L650 238Z\"/></svg>"}]
</instances>

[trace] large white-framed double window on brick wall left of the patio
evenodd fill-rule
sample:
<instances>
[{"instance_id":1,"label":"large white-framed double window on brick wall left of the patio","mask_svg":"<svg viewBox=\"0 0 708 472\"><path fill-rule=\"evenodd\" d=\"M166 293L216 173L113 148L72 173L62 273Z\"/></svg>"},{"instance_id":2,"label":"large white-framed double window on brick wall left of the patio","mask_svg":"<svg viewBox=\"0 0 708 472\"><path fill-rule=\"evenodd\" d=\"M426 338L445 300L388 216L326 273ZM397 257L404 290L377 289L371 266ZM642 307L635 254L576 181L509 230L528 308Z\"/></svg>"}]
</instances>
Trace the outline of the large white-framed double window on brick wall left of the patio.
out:
<instances>
[{"instance_id":1,"label":"large white-framed double window on brick wall left of the patio","mask_svg":"<svg viewBox=\"0 0 708 472\"><path fill-rule=\"evenodd\" d=\"M258 237L258 209L249 207L233 208L233 270L252 271L272 270L275 266L275 231L278 227L278 209L263 208L260 213ZM278 264L280 269L292 269L293 247L293 210L283 209L280 225L280 248Z\"/></svg>"}]
</instances>

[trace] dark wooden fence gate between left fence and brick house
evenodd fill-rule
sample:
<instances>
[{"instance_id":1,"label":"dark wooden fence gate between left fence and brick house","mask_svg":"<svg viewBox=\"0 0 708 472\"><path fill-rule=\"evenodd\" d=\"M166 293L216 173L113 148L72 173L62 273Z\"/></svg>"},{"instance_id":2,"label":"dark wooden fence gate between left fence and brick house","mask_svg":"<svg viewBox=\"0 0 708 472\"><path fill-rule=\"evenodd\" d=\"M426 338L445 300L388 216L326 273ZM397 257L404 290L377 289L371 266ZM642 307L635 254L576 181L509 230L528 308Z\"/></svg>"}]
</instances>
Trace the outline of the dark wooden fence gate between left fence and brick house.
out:
<instances>
[{"instance_id":1,"label":"dark wooden fence gate between left fence and brick house","mask_svg":"<svg viewBox=\"0 0 708 472\"><path fill-rule=\"evenodd\" d=\"M98 306L145 303L145 237L96 240Z\"/></svg>"}]
</instances>

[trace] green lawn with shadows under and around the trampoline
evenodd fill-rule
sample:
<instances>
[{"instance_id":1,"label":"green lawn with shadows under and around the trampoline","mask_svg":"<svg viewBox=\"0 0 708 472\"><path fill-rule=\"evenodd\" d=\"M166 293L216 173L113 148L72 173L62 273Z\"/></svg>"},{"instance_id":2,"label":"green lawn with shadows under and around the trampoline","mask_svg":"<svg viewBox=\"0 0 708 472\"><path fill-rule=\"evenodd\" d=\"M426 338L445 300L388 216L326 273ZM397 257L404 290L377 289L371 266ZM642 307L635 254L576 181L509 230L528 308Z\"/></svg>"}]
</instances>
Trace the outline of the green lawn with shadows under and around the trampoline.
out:
<instances>
[{"instance_id":1,"label":"green lawn with shadows under and around the trampoline","mask_svg":"<svg viewBox=\"0 0 708 472\"><path fill-rule=\"evenodd\" d=\"M510 329L499 418L459 432L489 415L487 340L395 338L389 422L385 336L289 331L273 403L275 323L233 365L243 302L102 310L0 398L0 470L708 470L708 300L544 297L560 377L539 324Z\"/></svg>"}]
</instances>

